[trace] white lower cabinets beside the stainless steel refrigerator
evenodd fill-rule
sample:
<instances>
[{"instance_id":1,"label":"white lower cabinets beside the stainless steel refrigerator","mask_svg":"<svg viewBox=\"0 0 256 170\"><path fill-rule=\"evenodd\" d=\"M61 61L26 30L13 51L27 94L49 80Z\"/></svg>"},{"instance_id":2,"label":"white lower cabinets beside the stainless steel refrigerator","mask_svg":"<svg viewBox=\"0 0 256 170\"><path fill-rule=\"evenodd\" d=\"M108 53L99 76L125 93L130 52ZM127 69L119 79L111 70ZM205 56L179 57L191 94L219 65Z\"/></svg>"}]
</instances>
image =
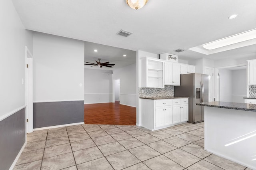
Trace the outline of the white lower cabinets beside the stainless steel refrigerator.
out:
<instances>
[{"instance_id":1,"label":"white lower cabinets beside the stainless steel refrigerator","mask_svg":"<svg viewBox=\"0 0 256 170\"><path fill-rule=\"evenodd\" d=\"M188 98L140 99L140 111L142 127L150 130L170 127L188 121Z\"/></svg>"}]
</instances>

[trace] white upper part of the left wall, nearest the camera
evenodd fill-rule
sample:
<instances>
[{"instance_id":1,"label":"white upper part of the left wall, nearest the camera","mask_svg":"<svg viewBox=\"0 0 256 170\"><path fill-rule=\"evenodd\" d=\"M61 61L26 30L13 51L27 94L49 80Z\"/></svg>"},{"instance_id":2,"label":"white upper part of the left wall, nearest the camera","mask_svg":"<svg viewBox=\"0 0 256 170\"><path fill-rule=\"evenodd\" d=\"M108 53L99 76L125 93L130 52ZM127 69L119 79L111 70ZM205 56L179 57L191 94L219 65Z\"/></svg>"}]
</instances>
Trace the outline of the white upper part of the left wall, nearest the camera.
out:
<instances>
[{"instance_id":1,"label":"white upper part of the left wall, nearest the camera","mask_svg":"<svg viewBox=\"0 0 256 170\"><path fill-rule=\"evenodd\" d=\"M0 121L25 106L25 46L33 52L32 32L25 30L11 0L0 1Z\"/></svg>"}]
</instances>

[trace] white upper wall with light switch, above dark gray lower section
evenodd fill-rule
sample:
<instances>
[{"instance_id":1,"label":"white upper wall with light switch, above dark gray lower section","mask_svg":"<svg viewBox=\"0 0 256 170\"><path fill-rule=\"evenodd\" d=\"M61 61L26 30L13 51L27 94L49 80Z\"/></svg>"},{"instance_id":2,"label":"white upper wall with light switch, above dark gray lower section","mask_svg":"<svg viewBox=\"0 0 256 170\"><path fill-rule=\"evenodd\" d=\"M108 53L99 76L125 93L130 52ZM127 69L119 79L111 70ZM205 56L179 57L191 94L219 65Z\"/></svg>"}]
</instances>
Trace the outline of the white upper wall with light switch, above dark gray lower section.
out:
<instances>
[{"instance_id":1,"label":"white upper wall with light switch, above dark gray lower section","mask_svg":"<svg viewBox=\"0 0 256 170\"><path fill-rule=\"evenodd\" d=\"M39 32L33 40L34 102L84 100L84 42Z\"/></svg>"}]
</instances>

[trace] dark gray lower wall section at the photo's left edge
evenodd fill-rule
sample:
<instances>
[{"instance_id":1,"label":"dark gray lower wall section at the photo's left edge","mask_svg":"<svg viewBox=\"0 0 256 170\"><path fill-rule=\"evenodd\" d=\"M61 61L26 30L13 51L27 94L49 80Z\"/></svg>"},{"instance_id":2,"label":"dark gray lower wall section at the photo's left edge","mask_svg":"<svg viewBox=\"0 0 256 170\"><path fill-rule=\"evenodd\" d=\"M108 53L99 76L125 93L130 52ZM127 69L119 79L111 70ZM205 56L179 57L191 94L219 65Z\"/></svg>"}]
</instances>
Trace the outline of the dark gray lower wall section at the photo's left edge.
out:
<instances>
[{"instance_id":1,"label":"dark gray lower wall section at the photo's left edge","mask_svg":"<svg viewBox=\"0 0 256 170\"><path fill-rule=\"evenodd\" d=\"M25 109L0 121L0 170L8 170L25 143Z\"/></svg>"}]
</instances>

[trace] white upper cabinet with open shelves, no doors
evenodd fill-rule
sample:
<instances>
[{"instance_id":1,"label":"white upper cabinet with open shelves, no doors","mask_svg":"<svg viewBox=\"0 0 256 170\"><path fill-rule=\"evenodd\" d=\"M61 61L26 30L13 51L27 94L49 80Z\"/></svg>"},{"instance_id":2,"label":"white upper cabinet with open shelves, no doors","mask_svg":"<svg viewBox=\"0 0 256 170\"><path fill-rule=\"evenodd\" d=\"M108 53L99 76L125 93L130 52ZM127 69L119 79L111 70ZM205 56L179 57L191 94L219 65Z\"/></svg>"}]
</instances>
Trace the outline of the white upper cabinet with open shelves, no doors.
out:
<instances>
[{"instance_id":1,"label":"white upper cabinet with open shelves, no doors","mask_svg":"<svg viewBox=\"0 0 256 170\"><path fill-rule=\"evenodd\" d=\"M140 87L164 87L164 61L151 57L140 60Z\"/></svg>"}]
</instances>

